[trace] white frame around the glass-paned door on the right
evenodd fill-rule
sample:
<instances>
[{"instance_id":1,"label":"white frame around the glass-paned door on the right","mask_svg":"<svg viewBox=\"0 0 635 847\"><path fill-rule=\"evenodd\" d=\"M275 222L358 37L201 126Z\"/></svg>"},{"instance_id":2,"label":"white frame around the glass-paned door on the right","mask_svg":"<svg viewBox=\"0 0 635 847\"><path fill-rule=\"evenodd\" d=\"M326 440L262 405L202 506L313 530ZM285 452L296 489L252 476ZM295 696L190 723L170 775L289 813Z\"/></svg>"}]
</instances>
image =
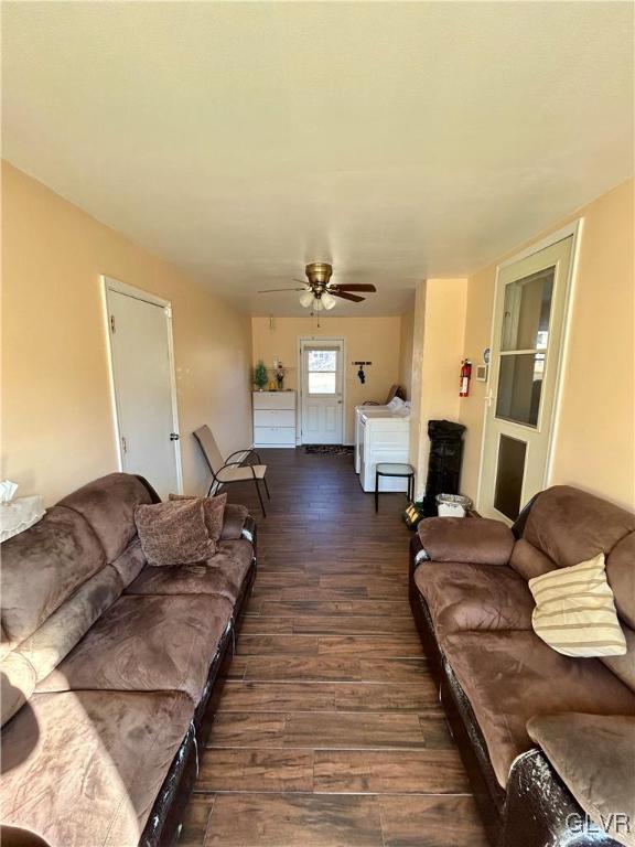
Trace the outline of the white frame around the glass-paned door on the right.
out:
<instances>
[{"instance_id":1,"label":"white frame around the glass-paned door on the right","mask_svg":"<svg viewBox=\"0 0 635 847\"><path fill-rule=\"evenodd\" d=\"M556 452L556 443L557 443L558 435L560 430L562 383L563 383L563 374L569 364L571 312L573 308L575 283L578 280L578 266L580 261L580 245L582 243L583 226L584 226L583 217L579 217L575 221L571 221L571 223L566 224L560 229L557 229L556 232L551 233L545 238L541 238L539 242L531 243L525 249L514 254L514 256L510 256L508 259L505 259L504 261L499 262L496 266L496 276L494 280L494 304L492 307L492 321L491 321L491 328L489 328L489 350L494 350L494 346L495 346L494 331L495 331L495 322L496 322L496 310L498 309L501 297L504 296L503 286L499 285L501 271L509 267L509 265L515 265L517 261L521 261L523 259L527 259L529 256L532 256L536 253L540 253L541 250L545 250L547 247L552 247L555 244L558 244L558 242L562 242L566 238L570 238L570 237L572 237L573 239L571 244L571 261L569 264L569 274L566 280L562 339L560 342L561 344L560 355L559 355L558 367L556 371L556 382L553 387L553 409L551 412L551 426L549 429L548 446L547 446L547 462L545 463L545 475L542 478L542 487L547 487L551 481L551 473L553 469L553 455ZM487 390L485 394L486 401L487 399L489 399L489 396L491 396L491 379L492 379L492 368L489 367L488 377L487 377ZM484 478L484 471L485 471L484 461L485 461L486 436L487 436L487 403L483 405L482 431L481 431L481 455L478 459L478 483L476 487L476 508L477 510L481 510L483 507L482 498L483 498L483 487L484 487L483 478ZM526 505L525 503L521 503L520 508L523 508L525 505ZM498 519L505 521L509 525L514 523L509 518L505 517L505 515L499 515Z\"/></svg>"}]
</instances>

